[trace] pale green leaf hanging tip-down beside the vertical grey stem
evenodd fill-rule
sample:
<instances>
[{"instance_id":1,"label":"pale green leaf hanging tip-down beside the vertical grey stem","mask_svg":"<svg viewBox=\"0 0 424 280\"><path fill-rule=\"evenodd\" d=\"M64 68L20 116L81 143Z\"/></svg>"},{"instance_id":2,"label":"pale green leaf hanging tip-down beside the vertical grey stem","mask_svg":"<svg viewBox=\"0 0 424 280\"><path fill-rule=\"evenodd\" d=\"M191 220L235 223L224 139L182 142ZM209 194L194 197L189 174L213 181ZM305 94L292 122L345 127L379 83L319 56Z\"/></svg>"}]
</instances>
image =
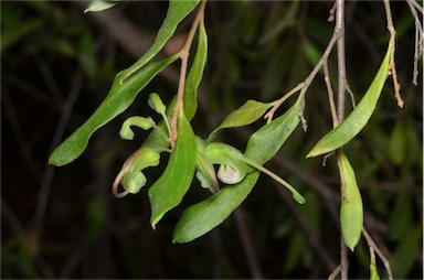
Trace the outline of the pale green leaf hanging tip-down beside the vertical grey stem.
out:
<instances>
[{"instance_id":1,"label":"pale green leaf hanging tip-down beside the vertical grey stem","mask_svg":"<svg viewBox=\"0 0 424 280\"><path fill-rule=\"evenodd\" d=\"M341 234L346 246L353 251L362 233L362 198L354 171L342 152L340 152L340 171L344 182L344 196L341 198L340 208Z\"/></svg>"}]
</instances>

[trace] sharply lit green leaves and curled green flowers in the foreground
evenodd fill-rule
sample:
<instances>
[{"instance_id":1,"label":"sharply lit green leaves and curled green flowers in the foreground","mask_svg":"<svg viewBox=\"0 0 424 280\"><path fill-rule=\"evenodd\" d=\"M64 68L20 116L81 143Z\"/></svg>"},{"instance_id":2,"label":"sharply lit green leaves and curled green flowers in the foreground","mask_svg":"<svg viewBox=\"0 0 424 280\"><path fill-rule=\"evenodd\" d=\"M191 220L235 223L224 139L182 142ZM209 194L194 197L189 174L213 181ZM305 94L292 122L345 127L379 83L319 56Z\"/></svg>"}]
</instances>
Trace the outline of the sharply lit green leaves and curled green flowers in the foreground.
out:
<instances>
[{"instance_id":1,"label":"sharply lit green leaves and curled green flowers in the foreground","mask_svg":"<svg viewBox=\"0 0 424 280\"><path fill-rule=\"evenodd\" d=\"M102 11L117 2L93 1L87 11ZM123 139L134 140L135 133L131 127L151 130L151 132L141 147L127 159L113 183L113 193L116 197L138 193L148 181L145 170L158 166L162 153L170 153L163 173L148 191L151 206L150 223L153 228L169 211L181 203L193 180L198 180L202 187L209 190L211 194L209 198L183 211L174 227L174 243L189 243L223 223L252 192L261 173L269 175L285 186L292 192L297 203L306 202L294 186L265 169L264 164L280 150L299 123L306 128L303 111L310 80L300 83L293 91L272 103L247 100L242 107L232 111L206 139L195 136L190 121L198 109L197 93L208 56L204 7L204 0L170 0L167 17L153 45L134 65L116 75L104 101L53 151L49 161L51 164L61 166L77 159L97 129L124 112L161 71L181 60L178 94L171 104L167 107L158 94L150 94L148 104L155 111L153 116L134 116L124 121L119 131ZM152 62L173 35L178 24L195 8L198 8L197 17L182 50L168 58ZM198 46L189 67L189 51L195 33ZM327 58L328 54L326 52L322 57ZM393 54L394 36L391 36L385 57L362 100L307 154L307 158L312 158L337 151L341 175L341 231L346 246L351 250L357 246L363 229L363 204L354 171L340 148L362 130L374 111L390 74ZM299 90L299 96L293 106L279 117L274 118L280 104ZM251 136L245 151L214 141L222 130L251 125L264 115L267 119L266 125ZM119 189L123 190L119 191Z\"/></svg>"}]
</instances>

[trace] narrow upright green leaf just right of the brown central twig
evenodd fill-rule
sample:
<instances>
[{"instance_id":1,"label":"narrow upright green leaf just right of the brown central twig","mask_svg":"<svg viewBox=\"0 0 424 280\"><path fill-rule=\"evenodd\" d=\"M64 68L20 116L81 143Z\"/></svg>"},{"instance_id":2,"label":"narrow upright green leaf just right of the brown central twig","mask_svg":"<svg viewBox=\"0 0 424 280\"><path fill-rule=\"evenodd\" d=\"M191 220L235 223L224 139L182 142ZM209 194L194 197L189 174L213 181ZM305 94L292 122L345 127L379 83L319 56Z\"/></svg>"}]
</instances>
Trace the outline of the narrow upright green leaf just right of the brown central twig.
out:
<instances>
[{"instance_id":1,"label":"narrow upright green leaf just right of the brown central twig","mask_svg":"<svg viewBox=\"0 0 424 280\"><path fill-rule=\"evenodd\" d=\"M204 22L199 24L199 43L193 65L184 84L184 112L188 120L191 120L198 110L198 88L203 76L204 65L208 57L208 35Z\"/></svg>"}]
</instances>

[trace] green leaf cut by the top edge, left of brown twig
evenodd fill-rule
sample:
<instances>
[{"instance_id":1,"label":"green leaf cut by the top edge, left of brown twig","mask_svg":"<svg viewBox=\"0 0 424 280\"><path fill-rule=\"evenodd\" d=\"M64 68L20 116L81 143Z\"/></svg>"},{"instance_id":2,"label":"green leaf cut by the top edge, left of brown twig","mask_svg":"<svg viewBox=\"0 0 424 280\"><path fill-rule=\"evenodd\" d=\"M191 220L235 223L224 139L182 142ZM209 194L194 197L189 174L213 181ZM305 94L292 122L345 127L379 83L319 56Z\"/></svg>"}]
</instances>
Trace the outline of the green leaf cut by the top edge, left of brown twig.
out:
<instances>
[{"instance_id":1,"label":"green leaf cut by the top edge, left of brown twig","mask_svg":"<svg viewBox=\"0 0 424 280\"><path fill-rule=\"evenodd\" d=\"M200 0L170 0L167 17L160 26L153 45L132 66L127 68L120 77L120 83L134 75L139 68L157 55L168 40L173 35L178 24L198 6Z\"/></svg>"}]
</instances>

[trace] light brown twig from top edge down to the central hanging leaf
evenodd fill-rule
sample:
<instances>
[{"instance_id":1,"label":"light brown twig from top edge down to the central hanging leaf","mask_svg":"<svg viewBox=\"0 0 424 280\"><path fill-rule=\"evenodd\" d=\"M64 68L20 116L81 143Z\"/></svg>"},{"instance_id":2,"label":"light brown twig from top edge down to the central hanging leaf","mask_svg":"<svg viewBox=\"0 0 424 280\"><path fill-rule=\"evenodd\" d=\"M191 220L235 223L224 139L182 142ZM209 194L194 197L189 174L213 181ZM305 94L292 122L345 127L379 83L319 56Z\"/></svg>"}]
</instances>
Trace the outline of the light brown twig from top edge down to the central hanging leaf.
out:
<instances>
[{"instance_id":1,"label":"light brown twig from top edge down to the central hanging leaf","mask_svg":"<svg viewBox=\"0 0 424 280\"><path fill-rule=\"evenodd\" d=\"M171 147L173 147L173 144L176 143L176 140L177 140L177 134L178 134L177 120L178 120L178 116L180 115L180 111L182 110L182 106L183 106L182 99L183 99L183 95L184 95L184 84L186 84L187 67L189 64L190 47L191 47L191 43L193 42L195 31L198 30L200 22L204 18L205 4L206 4L206 1L202 0L200 3L199 11L195 15L193 25L191 25L191 29L190 29L189 35L187 37L186 44L182 47L182 50L180 51L180 58L181 58L180 82L178 84L177 105L176 105L176 109L173 111L173 116L172 116L172 120L171 120L171 131L172 132L171 132L171 136L169 139Z\"/></svg>"}]
</instances>

